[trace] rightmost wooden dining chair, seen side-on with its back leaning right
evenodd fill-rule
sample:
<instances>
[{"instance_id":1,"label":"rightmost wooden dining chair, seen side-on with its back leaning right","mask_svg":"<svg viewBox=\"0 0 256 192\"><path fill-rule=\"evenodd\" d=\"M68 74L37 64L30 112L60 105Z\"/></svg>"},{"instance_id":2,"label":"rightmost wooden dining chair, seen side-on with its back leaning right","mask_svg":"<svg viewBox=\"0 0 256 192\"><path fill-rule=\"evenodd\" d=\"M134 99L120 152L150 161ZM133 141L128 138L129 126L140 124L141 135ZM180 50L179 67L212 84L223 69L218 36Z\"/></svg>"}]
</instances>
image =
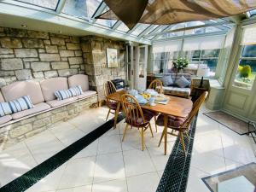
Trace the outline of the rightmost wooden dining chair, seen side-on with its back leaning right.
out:
<instances>
[{"instance_id":1,"label":"rightmost wooden dining chair, seen side-on with its back leaning right","mask_svg":"<svg viewBox=\"0 0 256 192\"><path fill-rule=\"evenodd\" d=\"M185 143L184 143L184 139L183 139L183 133L186 134L186 137L189 137L188 131L189 131L190 125L192 123L192 120L194 119L195 115L199 111L201 104L206 100L207 95L208 95L208 92L205 91L201 94L201 96L198 97L198 99L193 104L193 108L187 118L179 118L179 117L174 117L174 116L170 116L170 115L168 116L167 127L172 129L172 132L167 131L167 134L170 134L172 136L179 136L180 142L182 143L182 146L183 146L184 153L186 153L186 149L185 149ZM164 115L163 114L159 115L158 119L156 120L156 123L157 123L157 125L164 125ZM174 134L173 131L178 131L179 132L178 135ZM164 137L164 131L160 137L160 143L161 143L163 137ZM158 145L159 147L160 147L160 143Z\"/></svg>"}]
</instances>

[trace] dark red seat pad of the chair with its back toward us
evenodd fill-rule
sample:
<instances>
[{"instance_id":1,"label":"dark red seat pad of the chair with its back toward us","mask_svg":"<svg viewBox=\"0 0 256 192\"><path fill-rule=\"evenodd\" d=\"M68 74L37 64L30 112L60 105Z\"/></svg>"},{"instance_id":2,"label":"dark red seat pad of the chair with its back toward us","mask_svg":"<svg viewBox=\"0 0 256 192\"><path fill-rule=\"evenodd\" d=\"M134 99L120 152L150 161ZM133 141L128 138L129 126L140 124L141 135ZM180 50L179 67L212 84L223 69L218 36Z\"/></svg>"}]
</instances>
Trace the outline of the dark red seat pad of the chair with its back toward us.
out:
<instances>
[{"instance_id":1,"label":"dark red seat pad of the chair with its back toward us","mask_svg":"<svg viewBox=\"0 0 256 192\"><path fill-rule=\"evenodd\" d=\"M145 123L143 122L143 118L136 117L126 117L125 121L132 126L143 127L150 122L150 120L154 117L154 114L148 110L143 110L143 116L145 119Z\"/></svg>"}]
</instances>

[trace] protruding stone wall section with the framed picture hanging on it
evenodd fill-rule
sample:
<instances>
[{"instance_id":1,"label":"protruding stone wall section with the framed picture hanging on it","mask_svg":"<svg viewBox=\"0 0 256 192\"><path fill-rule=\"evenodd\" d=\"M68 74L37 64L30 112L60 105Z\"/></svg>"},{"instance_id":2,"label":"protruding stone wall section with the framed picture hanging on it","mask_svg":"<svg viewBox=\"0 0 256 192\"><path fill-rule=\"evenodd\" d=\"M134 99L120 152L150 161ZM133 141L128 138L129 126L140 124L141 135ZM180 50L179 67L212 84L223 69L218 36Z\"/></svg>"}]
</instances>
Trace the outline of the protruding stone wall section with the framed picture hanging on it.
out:
<instances>
[{"instance_id":1,"label":"protruding stone wall section with the framed picture hanging on it","mask_svg":"<svg viewBox=\"0 0 256 192\"><path fill-rule=\"evenodd\" d=\"M103 84L108 80L125 79L125 42L114 41L96 36L80 38L83 51L85 73L89 75L89 84L104 99ZM107 48L118 49L119 67L107 67Z\"/></svg>"}]
</instances>

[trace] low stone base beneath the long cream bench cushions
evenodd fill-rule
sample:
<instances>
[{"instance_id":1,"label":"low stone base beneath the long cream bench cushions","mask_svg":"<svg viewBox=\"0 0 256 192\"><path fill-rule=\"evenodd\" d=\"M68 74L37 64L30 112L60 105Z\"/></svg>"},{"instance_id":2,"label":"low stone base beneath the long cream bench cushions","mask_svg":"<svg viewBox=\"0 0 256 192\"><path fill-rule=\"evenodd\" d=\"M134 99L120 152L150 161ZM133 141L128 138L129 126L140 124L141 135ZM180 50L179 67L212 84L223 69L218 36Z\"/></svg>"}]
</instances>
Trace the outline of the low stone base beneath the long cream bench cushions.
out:
<instances>
[{"instance_id":1,"label":"low stone base beneath the long cream bench cushions","mask_svg":"<svg viewBox=\"0 0 256 192\"><path fill-rule=\"evenodd\" d=\"M27 119L22 119L11 125L0 128L0 151L9 148L15 143L20 143L26 138L37 135L49 129L58 122L73 119L85 110L97 106L97 96L91 96L79 102L73 102L49 112L39 113Z\"/></svg>"}]
</instances>

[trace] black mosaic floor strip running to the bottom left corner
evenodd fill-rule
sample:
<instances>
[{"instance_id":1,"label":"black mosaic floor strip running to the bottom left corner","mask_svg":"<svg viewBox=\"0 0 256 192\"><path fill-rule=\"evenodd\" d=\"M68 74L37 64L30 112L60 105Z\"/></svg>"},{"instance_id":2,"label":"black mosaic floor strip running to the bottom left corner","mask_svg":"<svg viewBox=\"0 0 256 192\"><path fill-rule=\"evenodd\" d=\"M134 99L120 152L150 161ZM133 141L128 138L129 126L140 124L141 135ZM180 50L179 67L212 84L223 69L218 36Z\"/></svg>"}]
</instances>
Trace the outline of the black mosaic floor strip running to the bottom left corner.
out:
<instances>
[{"instance_id":1,"label":"black mosaic floor strip running to the bottom left corner","mask_svg":"<svg viewBox=\"0 0 256 192\"><path fill-rule=\"evenodd\" d=\"M118 122L124 118L125 116L123 114L119 114ZM33 184L38 183L40 179L46 177L50 172L55 171L56 168L67 162L67 160L70 160L75 154L78 154L82 149L86 148L90 143L94 142L98 137L101 137L112 127L113 119L108 120L77 142L69 145L40 165L32 168L32 170L4 185L0 188L0 192L22 192L29 189Z\"/></svg>"}]
</instances>

